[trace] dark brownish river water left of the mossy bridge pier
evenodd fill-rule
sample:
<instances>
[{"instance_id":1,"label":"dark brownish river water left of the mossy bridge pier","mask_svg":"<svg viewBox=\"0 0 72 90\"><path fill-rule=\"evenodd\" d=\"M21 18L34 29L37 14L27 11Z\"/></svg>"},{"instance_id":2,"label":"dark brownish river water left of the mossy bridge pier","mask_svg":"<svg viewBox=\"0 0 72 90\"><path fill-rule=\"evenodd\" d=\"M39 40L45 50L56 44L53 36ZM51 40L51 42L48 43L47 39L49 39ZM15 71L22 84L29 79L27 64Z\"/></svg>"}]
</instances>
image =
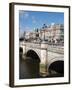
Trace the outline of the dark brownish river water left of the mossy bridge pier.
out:
<instances>
[{"instance_id":1,"label":"dark brownish river water left of the mossy bridge pier","mask_svg":"<svg viewBox=\"0 0 72 90\"><path fill-rule=\"evenodd\" d=\"M31 58L23 59L20 56L20 79L39 78L39 62Z\"/></svg>"}]
</instances>

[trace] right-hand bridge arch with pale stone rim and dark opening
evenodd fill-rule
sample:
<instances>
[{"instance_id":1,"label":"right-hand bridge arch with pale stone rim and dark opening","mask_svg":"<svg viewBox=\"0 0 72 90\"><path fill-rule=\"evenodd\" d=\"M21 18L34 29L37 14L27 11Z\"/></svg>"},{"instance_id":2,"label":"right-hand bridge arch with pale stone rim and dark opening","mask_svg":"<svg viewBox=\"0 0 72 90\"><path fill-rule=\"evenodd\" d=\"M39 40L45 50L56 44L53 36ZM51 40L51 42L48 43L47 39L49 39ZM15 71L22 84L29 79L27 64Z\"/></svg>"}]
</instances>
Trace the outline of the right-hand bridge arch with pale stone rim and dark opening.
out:
<instances>
[{"instance_id":1,"label":"right-hand bridge arch with pale stone rim and dark opening","mask_svg":"<svg viewBox=\"0 0 72 90\"><path fill-rule=\"evenodd\" d=\"M64 60L63 58L56 58L55 60L53 59L51 63L48 66L49 73L51 71L55 71L59 75L64 75Z\"/></svg>"}]
</instances>

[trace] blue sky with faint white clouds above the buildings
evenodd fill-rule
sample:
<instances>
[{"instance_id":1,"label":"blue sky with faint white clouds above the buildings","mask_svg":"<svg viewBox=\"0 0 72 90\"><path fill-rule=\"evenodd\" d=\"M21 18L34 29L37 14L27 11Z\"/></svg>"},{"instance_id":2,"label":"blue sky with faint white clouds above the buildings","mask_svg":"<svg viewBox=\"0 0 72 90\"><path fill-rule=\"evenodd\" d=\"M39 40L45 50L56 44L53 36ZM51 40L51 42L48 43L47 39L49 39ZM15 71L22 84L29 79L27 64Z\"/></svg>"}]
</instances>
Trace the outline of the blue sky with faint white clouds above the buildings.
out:
<instances>
[{"instance_id":1,"label":"blue sky with faint white clouds above the buildings","mask_svg":"<svg viewBox=\"0 0 72 90\"><path fill-rule=\"evenodd\" d=\"M40 12L40 11L19 11L20 33L33 31L41 28L43 24L51 25L64 24L64 13L59 12Z\"/></svg>"}]
</instances>

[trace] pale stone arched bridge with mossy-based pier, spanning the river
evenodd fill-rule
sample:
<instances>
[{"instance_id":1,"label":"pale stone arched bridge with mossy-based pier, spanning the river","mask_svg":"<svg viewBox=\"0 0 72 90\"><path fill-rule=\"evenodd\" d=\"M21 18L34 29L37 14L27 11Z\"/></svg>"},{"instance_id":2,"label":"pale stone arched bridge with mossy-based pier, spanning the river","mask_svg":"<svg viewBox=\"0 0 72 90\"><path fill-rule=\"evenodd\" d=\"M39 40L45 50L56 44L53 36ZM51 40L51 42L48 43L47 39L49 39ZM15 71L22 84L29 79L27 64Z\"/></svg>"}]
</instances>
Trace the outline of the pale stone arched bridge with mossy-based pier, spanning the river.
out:
<instances>
[{"instance_id":1,"label":"pale stone arched bridge with mossy-based pier, spanning the river","mask_svg":"<svg viewBox=\"0 0 72 90\"><path fill-rule=\"evenodd\" d=\"M31 58L33 58L34 55L35 58L38 57L37 59L40 60L40 73L43 76L48 74L48 70L53 63L64 62L64 48L62 46L48 45L45 42L30 43L23 41L20 42L19 47L22 49L23 58L25 58L25 55Z\"/></svg>"}]
</instances>

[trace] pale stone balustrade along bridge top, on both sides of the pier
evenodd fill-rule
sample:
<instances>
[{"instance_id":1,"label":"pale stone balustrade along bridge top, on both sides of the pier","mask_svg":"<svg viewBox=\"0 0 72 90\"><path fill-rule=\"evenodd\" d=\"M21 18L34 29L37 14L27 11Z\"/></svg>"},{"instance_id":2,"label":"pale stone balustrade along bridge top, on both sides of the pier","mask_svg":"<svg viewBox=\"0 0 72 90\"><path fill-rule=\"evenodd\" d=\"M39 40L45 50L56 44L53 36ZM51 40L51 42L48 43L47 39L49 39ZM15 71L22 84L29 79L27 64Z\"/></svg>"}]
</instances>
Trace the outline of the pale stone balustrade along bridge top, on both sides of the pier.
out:
<instances>
[{"instance_id":1,"label":"pale stone balustrade along bridge top, on both sides of the pier","mask_svg":"<svg viewBox=\"0 0 72 90\"><path fill-rule=\"evenodd\" d=\"M27 47L41 49L41 43L30 43L30 42L24 43L24 42L21 42L20 45L21 46L26 45ZM61 53L61 54L64 53L64 47L63 46L48 45L47 50L51 51L51 52Z\"/></svg>"}]
</instances>

